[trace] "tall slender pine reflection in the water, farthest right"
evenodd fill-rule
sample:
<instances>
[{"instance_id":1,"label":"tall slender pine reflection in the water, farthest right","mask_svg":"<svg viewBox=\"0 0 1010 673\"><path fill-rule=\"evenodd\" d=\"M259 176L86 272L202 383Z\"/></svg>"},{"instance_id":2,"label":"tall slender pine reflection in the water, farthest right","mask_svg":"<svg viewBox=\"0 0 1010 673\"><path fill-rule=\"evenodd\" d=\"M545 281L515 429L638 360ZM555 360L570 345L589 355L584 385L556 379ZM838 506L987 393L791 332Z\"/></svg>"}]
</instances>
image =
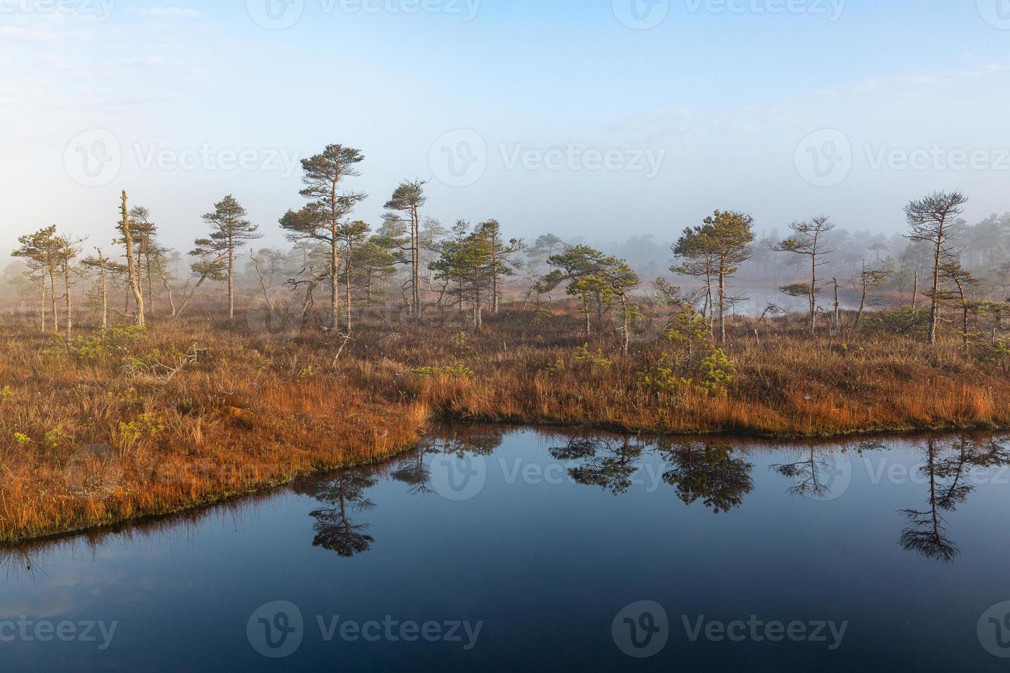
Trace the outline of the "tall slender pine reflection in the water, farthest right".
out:
<instances>
[{"instance_id":1,"label":"tall slender pine reflection in the water, farthest right","mask_svg":"<svg viewBox=\"0 0 1010 673\"><path fill-rule=\"evenodd\" d=\"M957 507L975 491L972 470L990 469L1010 463L1005 438L982 442L962 437L941 449L935 439L926 440L926 461L919 469L929 485L926 509L903 510L908 526L902 531L901 546L939 561L952 561L961 553L946 535L944 513Z\"/></svg>"}]
</instances>

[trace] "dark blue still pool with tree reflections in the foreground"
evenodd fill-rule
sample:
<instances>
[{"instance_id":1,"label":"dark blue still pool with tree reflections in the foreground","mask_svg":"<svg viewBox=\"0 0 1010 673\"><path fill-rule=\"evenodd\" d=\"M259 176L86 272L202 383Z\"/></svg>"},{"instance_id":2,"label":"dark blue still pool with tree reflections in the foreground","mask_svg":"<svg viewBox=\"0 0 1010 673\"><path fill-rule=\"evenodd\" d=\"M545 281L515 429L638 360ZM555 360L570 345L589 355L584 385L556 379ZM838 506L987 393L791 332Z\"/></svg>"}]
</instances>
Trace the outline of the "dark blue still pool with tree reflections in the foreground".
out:
<instances>
[{"instance_id":1,"label":"dark blue still pool with tree reflections in the foreground","mask_svg":"<svg viewBox=\"0 0 1010 673\"><path fill-rule=\"evenodd\" d=\"M1008 464L986 436L456 429L7 551L0 668L1007 670Z\"/></svg>"}]
</instances>

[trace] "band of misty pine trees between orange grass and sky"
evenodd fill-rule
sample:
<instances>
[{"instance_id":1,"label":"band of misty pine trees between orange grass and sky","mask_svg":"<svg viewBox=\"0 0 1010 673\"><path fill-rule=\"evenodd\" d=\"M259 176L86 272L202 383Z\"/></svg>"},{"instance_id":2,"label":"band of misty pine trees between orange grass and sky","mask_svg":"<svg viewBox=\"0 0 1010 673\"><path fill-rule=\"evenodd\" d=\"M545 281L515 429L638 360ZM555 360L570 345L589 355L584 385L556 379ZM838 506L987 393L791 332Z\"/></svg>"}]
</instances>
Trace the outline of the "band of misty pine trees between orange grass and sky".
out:
<instances>
[{"instance_id":1,"label":"band of misty pine trees between orange grass and sky","mask_svg":"<svg viewBox=\"0 0 1010 673\"><path fill-rule=\"evenodd\" d=\"M749 215L715 211L671 242L550 233L526 241L507 237L494 219L446 227L426 217L421 181L392 190L378 225L358 220L354 211L368 195L348 184L363 160L357 149L329 145L302 161L304 204L276 225L290 247L257 248L264 225L228 195L203 216L205 237L190 250L170 249L155 216L130 207L124 192L114 251L89 248L56 226L26 233L4 285L11 299L35 305L42 331L68 339L82 303L103 327L117 315L143 325L150 315L178 318L215 285L226 290L232 318L236 301L259 296L269 311L293 304L303 322L347 334L356 314L389 303L401 303L412 319L454 310L480 329L484 312L497 313L503 299L522 298L539 310L564 288L585 314L587 333L591 316L615 313L625 349L646 297L692 306L717 341L725 339L727 311L758 286L801 299L811 330L821 315L833 313L837 323L841 295L858 305L856 326L874 308L914 312L928 304L930 339L944 307L963 312L967 325L970 313L991 312L1010 298L1010 213L970 224L961 217L967 198L956 192L911 202L908 231L890 237L837 228L827 216L759 233ZM682 227L671 223L672 231ZM775 302L751 309L763 317L781 311Z\"/></svg>"}]
</instances>

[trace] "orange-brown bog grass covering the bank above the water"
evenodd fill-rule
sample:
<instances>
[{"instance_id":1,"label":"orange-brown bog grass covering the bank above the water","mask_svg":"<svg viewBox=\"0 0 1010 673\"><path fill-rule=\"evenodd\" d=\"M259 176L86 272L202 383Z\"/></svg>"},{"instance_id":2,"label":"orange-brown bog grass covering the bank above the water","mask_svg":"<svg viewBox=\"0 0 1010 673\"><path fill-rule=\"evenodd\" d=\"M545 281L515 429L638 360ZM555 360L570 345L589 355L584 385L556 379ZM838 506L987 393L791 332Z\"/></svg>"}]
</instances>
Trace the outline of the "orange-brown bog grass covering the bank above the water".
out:
<instances>
[{"instance_id":1,"label":"orange-brown bog grass covering the bank above the water","mask_svg":"<svg viewBox=\"0 0 1010 673\"><path fill-rule=\"evenodd\" d=\"M727 346L736 376L726 395L711 396L640 383L670 349L658 331L643 328L627 357L604 336L592 347L609 365L575 364L586 340L575 315L536 324L512 309L466 340L456 317L442 318L395 329L366 320L340 351L335 335L271 335L262 321L197 315L77 354L6 321L0 541L185 511L381 461L413 446L435 418L766 436L1010 426L1007 363L981 347L965 353L953 338L932 348L900 337L811 339L782 319L761 346L753 337ZM559 358L570 365L551 369ZM474 375L417 371L456 365Z\"/></svg>"}]
</instances>

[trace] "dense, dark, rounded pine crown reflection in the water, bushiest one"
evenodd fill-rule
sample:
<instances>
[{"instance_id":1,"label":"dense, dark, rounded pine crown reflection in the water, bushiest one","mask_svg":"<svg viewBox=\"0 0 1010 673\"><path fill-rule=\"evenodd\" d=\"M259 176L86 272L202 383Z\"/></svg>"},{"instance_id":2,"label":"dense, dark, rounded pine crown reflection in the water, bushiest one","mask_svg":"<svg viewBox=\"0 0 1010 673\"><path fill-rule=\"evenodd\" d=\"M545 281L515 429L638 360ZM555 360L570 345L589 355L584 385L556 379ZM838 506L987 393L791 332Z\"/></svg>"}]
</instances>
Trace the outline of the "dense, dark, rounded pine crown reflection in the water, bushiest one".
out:
<instances>
[{"instance_id":1,"label":"dense, dark, rounded pine crown reflection in the water, bushiest one","mask_svg":"<svg viewBox=\"0 0 1010 673\"><path fill-rule=\"evenodd\" d=\"M660 453L671 469L663 480L677 489L685 504L699 499L716 515L743 503L753 490L753 464L733 457L733 448L719 442L671 442Z\"/></svg>"}]
</instances>

